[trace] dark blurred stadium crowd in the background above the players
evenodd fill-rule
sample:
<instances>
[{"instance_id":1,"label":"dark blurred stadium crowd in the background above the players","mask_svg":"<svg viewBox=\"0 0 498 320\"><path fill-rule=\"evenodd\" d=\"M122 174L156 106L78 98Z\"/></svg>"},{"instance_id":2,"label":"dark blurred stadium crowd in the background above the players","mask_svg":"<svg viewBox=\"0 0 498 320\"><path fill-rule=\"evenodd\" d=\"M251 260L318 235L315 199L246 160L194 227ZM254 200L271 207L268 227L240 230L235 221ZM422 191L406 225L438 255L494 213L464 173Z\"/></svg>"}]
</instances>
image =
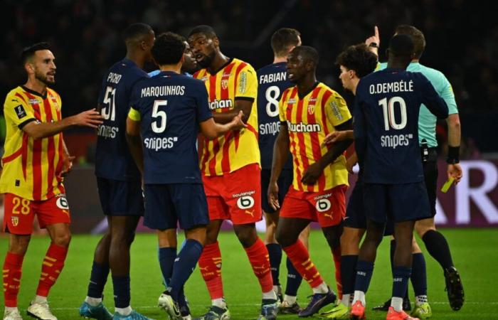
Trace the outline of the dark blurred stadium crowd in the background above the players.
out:
<instances>
[{"instance_id":1,"label":"dark blurred stadium crowd in the background above the players","mask_svg":"<svg viewBox=\"0 0 498 320\"><path fill-rule=\"evenodd\" d=\"M280 9L289 7L282 20L275 22L299 29L306 43L319 50L317 76L331 87L340 87L334 60L344 46L361 42L376 23L384 38L396 25L411 23L422 28L429 43L438 44L426 50L423 60L437 65L447 75L460 111L497 110L498 63L493 58L498 54L498 26L493 23L496 6L494 2L475 6L472 1L461 0L409 4L391 0L382 5L377 1L351 5L345 0L195 0L189 1L189 6L159 0L7 0L2 3L1 13L9 28L0 39L1 47L8 48L1 53L0 92L8 92L24 80L22 70L17 68L23 46L49 41L58 60L60 81L56 89L65 101L63 113L75 114L95 105L100 76L124 54L120 32L133 21L183 36L191 27L207 23L226 39L223 48L229 55L245 58L260 68L271 56L267 48L271 33L258 46L251 43L268 24L280 19ZM240 43L244 44L243 50L237 48ZM381 48L381 58L384 49Z\"/></svg>"}]
</instances>

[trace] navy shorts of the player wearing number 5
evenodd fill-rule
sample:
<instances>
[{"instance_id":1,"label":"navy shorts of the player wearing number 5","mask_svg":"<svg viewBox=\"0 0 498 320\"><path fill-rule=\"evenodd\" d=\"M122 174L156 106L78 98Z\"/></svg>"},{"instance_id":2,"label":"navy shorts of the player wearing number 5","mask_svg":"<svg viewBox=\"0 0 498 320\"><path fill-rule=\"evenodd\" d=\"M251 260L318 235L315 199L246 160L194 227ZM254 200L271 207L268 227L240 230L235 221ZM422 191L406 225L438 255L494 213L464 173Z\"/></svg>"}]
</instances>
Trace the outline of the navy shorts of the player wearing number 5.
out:
<instances>
[{"instance_id":1,"label":"navy shorts of the player wearing number 5","mask_svg":"<svg viewBox=\"0 0 498 320\"><path fill-rule=\"evenodd\" d=\"M201 183L146 184L144 225L151 229L191 230L209 223Z\"/></svg>"}]
</instances>

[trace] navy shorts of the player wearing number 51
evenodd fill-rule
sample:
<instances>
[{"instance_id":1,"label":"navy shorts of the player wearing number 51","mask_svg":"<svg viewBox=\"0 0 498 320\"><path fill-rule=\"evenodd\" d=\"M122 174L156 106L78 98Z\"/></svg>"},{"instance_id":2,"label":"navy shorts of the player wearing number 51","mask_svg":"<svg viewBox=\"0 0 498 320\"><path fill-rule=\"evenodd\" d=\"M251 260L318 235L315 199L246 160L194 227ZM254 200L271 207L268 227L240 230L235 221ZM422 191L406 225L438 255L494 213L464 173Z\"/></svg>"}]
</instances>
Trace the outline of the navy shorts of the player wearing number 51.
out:
<instances>
[{"instance_id":1,"label":"navy shorts of the player wearing number 51","mask_svg":"<svg viewBox=\"0 0 498 320\"><path fill-rule=\"evenodd\" d=\"M100 206L105 215L144 215L142 182L97 177Z\"/></svg>"}]
</instances>

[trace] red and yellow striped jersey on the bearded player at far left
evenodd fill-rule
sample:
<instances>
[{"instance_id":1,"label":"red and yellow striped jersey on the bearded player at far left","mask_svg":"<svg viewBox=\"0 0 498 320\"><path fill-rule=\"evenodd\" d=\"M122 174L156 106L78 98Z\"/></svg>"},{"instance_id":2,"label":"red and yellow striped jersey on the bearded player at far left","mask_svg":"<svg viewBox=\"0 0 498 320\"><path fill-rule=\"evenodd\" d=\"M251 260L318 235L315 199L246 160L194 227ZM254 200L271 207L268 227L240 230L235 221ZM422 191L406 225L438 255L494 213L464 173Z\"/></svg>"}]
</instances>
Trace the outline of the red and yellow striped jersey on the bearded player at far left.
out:
<instances>
[{"instance_id":1,"label":"red and yellow striped jersey on the bearded player at far left","mask_svg":"<svg viewBox=\"0 0 498 320\"><path fill-rule=\"evenodd\" d=\"M4 103L6 139L0 193L14 193L34 201L65 193L60 176L63 134L33 139L22 130L32 121L60 121L60 106L60 96L51 89L44 97L26 87L9 92Z\"/></svg>"}]
</instances>

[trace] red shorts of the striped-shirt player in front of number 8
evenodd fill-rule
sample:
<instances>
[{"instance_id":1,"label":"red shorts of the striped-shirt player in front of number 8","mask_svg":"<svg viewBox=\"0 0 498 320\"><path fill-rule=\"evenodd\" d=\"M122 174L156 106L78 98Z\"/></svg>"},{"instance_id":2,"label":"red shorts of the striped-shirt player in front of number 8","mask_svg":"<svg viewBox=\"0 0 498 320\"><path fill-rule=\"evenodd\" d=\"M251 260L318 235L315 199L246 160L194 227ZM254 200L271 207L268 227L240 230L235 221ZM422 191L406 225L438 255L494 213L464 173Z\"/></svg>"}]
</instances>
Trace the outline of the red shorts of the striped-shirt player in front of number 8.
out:
<instances>
[{"instance_id":1,"label":"red shorts of the striped-shirt player in front of number 8","mask_svg":"<svg viewBox=\"0 0 498 320\"><path fill-rule=\"evenodd\" d=\"M318 221L322 228L339 225L346 215L344 184L320 192L297 191L290 187L280 217Z\"/></svg>"}]
</instances>

